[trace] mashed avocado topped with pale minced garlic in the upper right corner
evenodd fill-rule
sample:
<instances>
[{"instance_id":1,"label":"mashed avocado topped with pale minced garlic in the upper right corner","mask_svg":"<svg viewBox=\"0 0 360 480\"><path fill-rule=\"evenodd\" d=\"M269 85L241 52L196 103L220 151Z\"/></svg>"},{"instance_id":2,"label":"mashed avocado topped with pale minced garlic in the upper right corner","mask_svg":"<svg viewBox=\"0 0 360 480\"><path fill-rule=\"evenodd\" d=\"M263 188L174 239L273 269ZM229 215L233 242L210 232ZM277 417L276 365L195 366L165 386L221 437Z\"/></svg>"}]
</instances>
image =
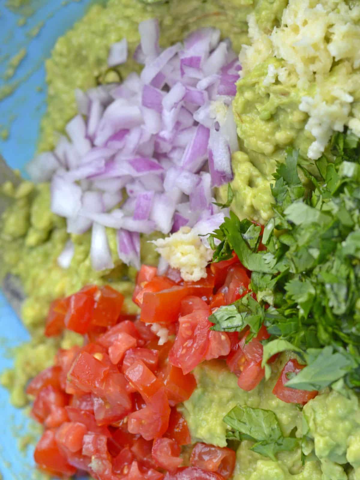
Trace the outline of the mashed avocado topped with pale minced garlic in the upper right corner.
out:
<instances>
[{"instance_id":1,"label":"mashed avocado topped with pale minced garlic in the upper right corner","mask_svg":"<svg viewBox=\"0 0 360 480\"><path fill-rule=\"evenodd\" d=\"M243 74L233 102L241 154L233 157L232 207L240 218L261 223L272 215L272 174L287 147L316 160L334 131L348 126L360 135L359 4L286 4L271 33L253 14L248 17L252 45L241 49ZM221 187L220 201L226 196Z\"/></svg>"}]
</instances>

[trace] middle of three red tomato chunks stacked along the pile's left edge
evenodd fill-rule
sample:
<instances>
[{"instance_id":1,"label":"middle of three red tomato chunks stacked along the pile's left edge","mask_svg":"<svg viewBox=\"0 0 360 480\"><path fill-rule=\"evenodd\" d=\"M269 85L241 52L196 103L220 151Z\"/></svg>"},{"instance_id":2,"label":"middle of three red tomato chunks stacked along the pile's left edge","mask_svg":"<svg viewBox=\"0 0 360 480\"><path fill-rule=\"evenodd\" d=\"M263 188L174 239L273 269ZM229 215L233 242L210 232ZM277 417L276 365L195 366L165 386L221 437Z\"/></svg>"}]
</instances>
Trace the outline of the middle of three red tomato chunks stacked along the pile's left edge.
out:
<instances>
[{"instance_id":1,"label":"middle of three red tomato chunks stacked along the pile's left edge","mask_svg":"<svg viewBox=\"0 0 360 480\"><path fill-rule=\"evenodd\" d=\"M43 387L34 400L33 408L31 410L31 415L39 423L46 423L49 427L57 427L54 425L54 420L56 423L56 418L59 418L58 408L65 407L69 402L69 396L62 392L59 388L55 388L52 385ZM51 415L55 412L55 418ZM65 421L67 420L67 415ZM60 416L61 420L61 416Z\"/></svg>"}]
</instances>

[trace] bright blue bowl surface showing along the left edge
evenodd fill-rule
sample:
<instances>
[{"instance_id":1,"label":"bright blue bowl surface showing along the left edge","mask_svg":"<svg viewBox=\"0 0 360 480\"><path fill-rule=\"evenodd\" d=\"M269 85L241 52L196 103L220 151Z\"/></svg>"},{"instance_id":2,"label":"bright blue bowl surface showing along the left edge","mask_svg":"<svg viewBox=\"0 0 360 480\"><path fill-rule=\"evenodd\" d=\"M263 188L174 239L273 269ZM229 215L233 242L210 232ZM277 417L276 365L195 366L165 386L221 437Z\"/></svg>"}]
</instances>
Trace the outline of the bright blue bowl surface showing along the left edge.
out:
<instances>
[{"instance_id":1,"label":"bright blue bowl surface showing along the left edge","mask_svg":"<svg viewBox=\"0 0 360 480\"><path fill-rule=\"evenodd\" d=\"M0 101L0 132L9 131L9 138L0 141L0 153L12 168L19 168L23 175L24 165L36 150L39 124L46 110L46 83L44 60L50 56L57 38L63 35L81 18L93 0L30 0L29 7L35 10L23 26L19 26L21 12L6 8L7 0L0 0L0 91L6 84L18 84L11 96ZM40 22L44 26L37 36L29 32ZM26 56L7 83L3 75L8 60L26 48ZM29 338L5 298L0 293L0 371L11 367L9 348ZM24 453L18 448L19 438L26 431L29 420L23 411L9 403L8 392L0 387L1 435L0 473L4 480L32 478L35 468L33 448Z\"/></svg>"}]
</instances>

